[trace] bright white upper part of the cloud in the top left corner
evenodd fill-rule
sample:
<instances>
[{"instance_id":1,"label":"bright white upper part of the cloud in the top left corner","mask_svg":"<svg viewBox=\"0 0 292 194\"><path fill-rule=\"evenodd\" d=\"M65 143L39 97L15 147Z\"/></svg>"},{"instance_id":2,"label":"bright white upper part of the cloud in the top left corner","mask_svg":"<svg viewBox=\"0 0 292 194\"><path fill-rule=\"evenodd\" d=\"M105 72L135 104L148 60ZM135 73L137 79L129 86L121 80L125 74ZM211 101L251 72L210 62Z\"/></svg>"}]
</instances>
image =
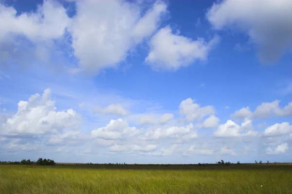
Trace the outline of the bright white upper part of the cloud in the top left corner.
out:
<instances>
[{"instance_id":1,"label":"bright white upper part of the cloud in the top left corner","mask_svg":"<svg viewBox=\"0 0 292 194\"><path fill-rule=\"evenodd\" d=\"M63 36L70 19L66 9L56 1L45 0L36 13L17 16L13 7L0 4L0 40L8 35L24 35L35 42Z\"/></svg>"}]
</instances>

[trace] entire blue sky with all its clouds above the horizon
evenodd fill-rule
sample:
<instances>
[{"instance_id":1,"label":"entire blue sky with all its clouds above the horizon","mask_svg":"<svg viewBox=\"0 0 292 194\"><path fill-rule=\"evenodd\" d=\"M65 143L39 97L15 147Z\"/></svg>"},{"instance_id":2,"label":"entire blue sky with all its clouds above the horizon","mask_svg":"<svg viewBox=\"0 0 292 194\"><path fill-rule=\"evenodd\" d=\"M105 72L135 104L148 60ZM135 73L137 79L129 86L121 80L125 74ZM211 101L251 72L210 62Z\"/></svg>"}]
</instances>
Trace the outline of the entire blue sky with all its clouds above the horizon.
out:
<instances>
[{"instance_id":1,"label":"entire blue sky with all its clouds above the horizon","mask_svg":"<svg viewBox=\"0 0 292 194\"><path fill-rule=\"evenodd\" d=\"M291 162L291 0L0 0L0 161Z\"/></svg>"}]
</instances>

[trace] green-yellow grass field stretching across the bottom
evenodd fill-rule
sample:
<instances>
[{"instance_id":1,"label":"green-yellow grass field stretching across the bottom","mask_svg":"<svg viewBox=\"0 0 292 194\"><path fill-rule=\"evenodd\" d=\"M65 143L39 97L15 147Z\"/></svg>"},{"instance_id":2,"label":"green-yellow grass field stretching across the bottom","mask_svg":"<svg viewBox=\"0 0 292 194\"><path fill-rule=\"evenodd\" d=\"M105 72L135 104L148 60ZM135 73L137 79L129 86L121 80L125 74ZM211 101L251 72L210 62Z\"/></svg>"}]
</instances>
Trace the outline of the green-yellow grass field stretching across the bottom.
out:
<instances>
[{"instance_id":1,"label":"green-yellow grass field stretching across the bottom","mask_svg":"<svg viewBox=\"0 0 292 194\"><path fill-rule=\"evenodd\" d=\"M292 194L292 165L1 164L0 194Z\"/></svg>"}]
</instances>

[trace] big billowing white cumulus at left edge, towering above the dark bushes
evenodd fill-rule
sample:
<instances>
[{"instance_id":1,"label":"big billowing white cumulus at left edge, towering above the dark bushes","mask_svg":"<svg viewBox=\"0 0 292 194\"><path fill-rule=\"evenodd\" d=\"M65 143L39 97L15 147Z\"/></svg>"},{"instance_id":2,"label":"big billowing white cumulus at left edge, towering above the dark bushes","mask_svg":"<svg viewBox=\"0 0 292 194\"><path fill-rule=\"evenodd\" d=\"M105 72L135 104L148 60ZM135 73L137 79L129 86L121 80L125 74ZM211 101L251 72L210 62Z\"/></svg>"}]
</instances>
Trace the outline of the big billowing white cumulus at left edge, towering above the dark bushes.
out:
<instances>
[{"instance_id":1,"label":"big billowing white cumulus at left edge, towering above the dark bushes","mask_svg":"<svg viewBox=\"0 0 292 194\"><path fill-rule=\"evenodd\" d=\"M51 90L42 95L32 95L28 101L18 102L18 112L0 127L2 135L21 136L57 134L63 129L78 129L82 117L73 109L55 111L55 101L50 100Z\"/></svg>"}]
</instances>

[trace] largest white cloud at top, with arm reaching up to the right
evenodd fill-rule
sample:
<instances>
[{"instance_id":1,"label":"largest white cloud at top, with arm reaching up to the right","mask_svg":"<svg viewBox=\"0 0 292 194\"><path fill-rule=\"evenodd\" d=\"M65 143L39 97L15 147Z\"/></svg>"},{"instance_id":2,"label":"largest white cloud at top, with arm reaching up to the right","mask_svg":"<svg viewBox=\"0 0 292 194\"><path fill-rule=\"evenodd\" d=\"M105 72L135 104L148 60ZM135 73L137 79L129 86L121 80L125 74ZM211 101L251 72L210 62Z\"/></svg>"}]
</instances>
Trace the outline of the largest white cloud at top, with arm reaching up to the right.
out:
<instances>
[{"instance_id":1,"label":"largest white cloud at top, with arm reaching up to the right","mask_svg":"<svg viewBox=\"0 0 292 194\"><path fill-rule=\"evenodd\" d=\"M76 1L76 16L69 29L74 56L90 72L116 67L128 51L159 26L166 5L157 1L142 16L138 3L124 0Z\"/></svg>"}]
</instances>

